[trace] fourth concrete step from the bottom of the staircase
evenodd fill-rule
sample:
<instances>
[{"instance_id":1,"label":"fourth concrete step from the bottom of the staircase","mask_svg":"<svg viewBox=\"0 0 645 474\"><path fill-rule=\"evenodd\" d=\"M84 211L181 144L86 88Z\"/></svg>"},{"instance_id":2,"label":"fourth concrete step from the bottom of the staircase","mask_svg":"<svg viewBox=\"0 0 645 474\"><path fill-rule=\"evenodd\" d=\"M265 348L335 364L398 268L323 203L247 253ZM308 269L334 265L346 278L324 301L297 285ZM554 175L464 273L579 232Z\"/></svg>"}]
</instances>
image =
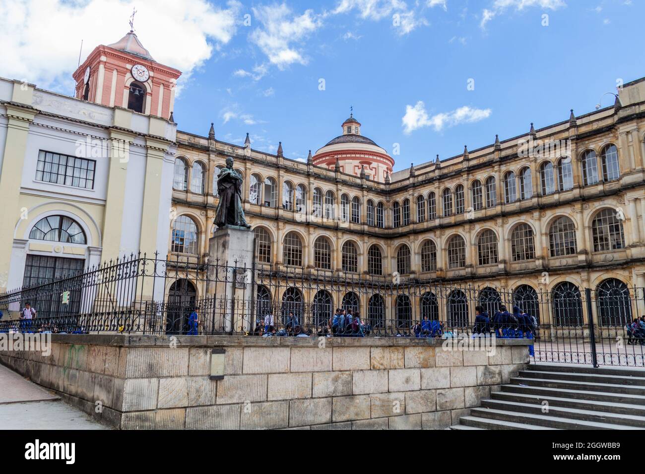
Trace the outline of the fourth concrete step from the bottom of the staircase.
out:
<instances>
[{"instance_id":1,"label":"fourth concrete step from the bottom of the staircase","mask_svg":"<svg viewBox=\"0 0 645 474\"><path fill-rule=\"evenodd\" d=\"M551 417L570 418L575 420L593 421L599 423L619 424L645 429L645 417L638 415L626 415L622 413L611 413L609 411L584 410L580 407L561 407L542 405L541 403L512 402L508 400L482 400L482 408L493 410L520 411L533 415L549 415ZM542 410L548 410L546 412Z\"/></svg>"}]
</instances>

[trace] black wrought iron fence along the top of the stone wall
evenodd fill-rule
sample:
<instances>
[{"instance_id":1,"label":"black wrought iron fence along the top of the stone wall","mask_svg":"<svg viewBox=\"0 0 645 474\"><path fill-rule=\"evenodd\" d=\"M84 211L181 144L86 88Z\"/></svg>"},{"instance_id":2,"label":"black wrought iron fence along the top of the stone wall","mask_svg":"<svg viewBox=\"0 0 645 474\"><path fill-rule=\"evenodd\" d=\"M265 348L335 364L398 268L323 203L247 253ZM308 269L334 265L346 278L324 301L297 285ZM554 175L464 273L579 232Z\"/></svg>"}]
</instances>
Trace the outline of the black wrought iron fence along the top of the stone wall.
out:
<instances>
[{"instance_id":1,"label":"black wrought iron fence along the top of the stone wall","mask_svg":"<svg viewBox=\"0 0 645 474\"><path fill-rule=\"evenodd\" d=\"M506 290L158 255L3 293L0 311L4 332L532 337L542 362L642 366L645 341L643 289L611 279L594 290Z\"/></svg>"}]
</instances>

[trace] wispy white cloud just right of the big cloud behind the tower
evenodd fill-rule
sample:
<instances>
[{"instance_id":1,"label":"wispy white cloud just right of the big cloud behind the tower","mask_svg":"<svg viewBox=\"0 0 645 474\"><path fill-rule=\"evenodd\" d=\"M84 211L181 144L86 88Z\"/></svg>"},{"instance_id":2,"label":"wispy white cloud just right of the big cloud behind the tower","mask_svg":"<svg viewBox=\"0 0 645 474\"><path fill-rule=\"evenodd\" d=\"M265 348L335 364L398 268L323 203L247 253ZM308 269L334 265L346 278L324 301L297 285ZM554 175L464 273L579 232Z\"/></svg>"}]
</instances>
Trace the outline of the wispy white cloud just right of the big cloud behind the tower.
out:
<instances>
[{"instance_id":1,"label":"wispy white cloud just right of the big cloud behind the tower","mask_svg":"<svg viewBox=\"0 0 645 474\"><path fill-rule=\"evenodd\" d=\"M262 27L255 28L249 39L268 57L270 64L280 69L294 63L307 64L298 43L323 25L319 15L313 10L295 15L285 3L253 8L253 15Z\"/></svg>"}]
</instances>

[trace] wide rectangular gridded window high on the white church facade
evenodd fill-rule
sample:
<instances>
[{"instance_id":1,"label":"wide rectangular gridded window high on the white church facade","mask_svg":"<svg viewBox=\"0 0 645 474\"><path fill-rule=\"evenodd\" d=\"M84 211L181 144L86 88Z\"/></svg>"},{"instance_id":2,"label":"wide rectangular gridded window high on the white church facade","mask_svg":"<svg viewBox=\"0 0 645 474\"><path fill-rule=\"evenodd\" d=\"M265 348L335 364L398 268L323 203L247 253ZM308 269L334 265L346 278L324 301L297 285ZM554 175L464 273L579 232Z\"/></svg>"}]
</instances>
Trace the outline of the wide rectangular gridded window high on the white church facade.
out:
<instances>
[{"instance_id":1,"label":"wide rectangular gridded window high on the white church facade","mask_svg":"<svg viewBox=\"0 0 645 474\"><path fill-rule=\"evenodd\" d=\"M94 189L95 168L94 160L41 150L36 164L36 180L74 188Z\"/></svg>"}]
</instances>

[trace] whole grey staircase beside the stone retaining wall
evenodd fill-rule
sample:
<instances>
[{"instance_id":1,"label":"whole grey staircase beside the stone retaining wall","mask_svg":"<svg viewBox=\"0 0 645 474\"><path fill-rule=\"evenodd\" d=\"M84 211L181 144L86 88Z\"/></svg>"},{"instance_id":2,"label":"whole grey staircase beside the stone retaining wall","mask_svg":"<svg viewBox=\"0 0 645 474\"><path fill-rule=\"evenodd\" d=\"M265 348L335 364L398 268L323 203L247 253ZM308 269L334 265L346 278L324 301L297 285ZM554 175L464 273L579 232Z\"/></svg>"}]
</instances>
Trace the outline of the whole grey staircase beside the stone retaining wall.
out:
<instances>
[{"instance_id":1,"label":"whole grey staircase beside the stone retaining wall","mask_svg":"<svg viewBox=\"0 0 645 474\"><path fill-rule=\"evenodd\" d=\"M531 364L452 430L645 430L645 370Z\"/></svg>"}]
</instances>

